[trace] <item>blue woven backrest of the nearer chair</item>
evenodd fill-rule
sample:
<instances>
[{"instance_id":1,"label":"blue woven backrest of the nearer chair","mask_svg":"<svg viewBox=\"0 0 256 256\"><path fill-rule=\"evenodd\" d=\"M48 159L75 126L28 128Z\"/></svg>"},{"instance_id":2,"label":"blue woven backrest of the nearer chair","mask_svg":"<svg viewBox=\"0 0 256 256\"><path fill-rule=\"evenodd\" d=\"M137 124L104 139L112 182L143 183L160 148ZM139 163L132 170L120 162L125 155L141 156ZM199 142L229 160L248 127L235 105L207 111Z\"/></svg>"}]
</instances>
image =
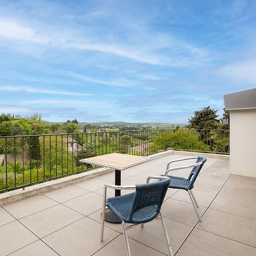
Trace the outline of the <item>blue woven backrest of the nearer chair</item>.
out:
<instances>
[{"instance_id":1,"label":"blue woven backrest of the nearer chair","mask_svg":"<svg viewBox=\"0 0 256 256\"><path fill-rule=\"evenodd\" d=\"M170 179L164 179L159 182L136 185L127 222L139 224L154 220L162 207L169 184Z\"/></svg>"}]
</instances>

